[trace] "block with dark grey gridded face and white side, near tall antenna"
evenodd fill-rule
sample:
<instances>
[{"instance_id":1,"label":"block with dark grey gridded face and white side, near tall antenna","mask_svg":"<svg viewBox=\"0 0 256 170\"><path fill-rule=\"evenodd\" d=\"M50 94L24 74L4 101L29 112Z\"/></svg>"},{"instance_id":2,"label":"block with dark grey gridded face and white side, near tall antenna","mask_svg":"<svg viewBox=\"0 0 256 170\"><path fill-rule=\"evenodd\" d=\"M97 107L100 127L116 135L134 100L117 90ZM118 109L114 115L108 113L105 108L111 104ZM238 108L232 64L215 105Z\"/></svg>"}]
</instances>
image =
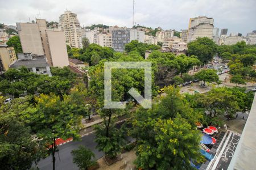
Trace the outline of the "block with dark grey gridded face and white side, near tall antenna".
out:
<instances>
[{"instance_id":1,"label":"block with dark grey gridded face and white side, near tall antenna","mask_svg":"<svg viewBox=\"0 0 256 170\"><path fill-rule=\"evenodd\" d=\"M116 52L123 52L125 44L132 40L143 42L145 40L145 32L137 29L118 29L112 31L112 48Z\"/></svg>"}]
</instances>

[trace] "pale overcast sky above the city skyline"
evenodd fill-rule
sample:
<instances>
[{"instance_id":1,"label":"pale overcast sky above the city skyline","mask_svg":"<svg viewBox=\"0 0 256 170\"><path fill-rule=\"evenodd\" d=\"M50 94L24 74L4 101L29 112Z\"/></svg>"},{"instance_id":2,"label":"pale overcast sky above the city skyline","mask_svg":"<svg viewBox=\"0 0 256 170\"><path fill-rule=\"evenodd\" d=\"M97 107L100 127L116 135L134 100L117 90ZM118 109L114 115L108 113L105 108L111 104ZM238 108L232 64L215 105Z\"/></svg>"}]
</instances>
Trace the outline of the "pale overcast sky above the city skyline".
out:
<instances>
[{"instance_id":1,"label":"pale overcast sky above the city skyline","mask_svg":"<svg viewBox=\"0 0 256 170\"><path fill-rule=\"evenodd\" d=\"M0 23L28 22L35 18L59 21L66 9L81 25L106 24L131 27L133 0L0 0ZM255 0L135 0L134 20L147 27L188 28L189 18L208 16L228 33L246 35L256 29ZM39 15L40 14L40 15Z\"/></svg>"}]
</instances>

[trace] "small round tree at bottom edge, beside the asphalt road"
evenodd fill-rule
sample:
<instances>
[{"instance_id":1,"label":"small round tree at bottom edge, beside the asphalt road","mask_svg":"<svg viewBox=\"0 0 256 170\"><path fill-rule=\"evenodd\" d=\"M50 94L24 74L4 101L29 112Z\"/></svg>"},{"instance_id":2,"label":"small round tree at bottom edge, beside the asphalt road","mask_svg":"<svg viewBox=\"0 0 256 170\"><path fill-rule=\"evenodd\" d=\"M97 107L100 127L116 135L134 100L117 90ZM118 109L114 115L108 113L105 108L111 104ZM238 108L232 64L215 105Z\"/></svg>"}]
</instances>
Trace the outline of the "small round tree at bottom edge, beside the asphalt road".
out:
<instances>
[{"instance_id":1,"label":"small round tree at bottom edge, beside the asphalt road","mask_svg":"<svg viewBox=\"0 0 256 170\"><path fill-rule=\"evenodd\" d=\"M95 155L92 151L88 150L84 146L79 146L77 150L72 150L71 154L73 155L73 163L77 164L77 167L81 170L88 170L89 167L96 164Z\"/></svg>"}]
</instances>

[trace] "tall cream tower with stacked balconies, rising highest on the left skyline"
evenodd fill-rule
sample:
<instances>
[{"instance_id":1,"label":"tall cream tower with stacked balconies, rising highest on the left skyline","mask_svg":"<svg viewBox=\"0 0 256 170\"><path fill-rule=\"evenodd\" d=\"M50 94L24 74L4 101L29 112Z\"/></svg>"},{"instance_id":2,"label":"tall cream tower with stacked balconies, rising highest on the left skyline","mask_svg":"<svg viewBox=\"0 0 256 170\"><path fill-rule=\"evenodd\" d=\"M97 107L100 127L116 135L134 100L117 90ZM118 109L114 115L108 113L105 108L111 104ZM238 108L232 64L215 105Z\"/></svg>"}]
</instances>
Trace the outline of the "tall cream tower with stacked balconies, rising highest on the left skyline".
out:
<instances>
[{"instance_id":1,"label":"tall cream tower with stacked balconies, rising highest on the left skyline","mask_svg":"<svg viewBox=\"0 0 256 170\"><path fill-rule=\"evenodd\" d=\"M65 40L72 47L82 48L81 27L77 15L71 11L65 11L60 15L58 27L65 32Z\"/></svg>"}]
</instances>

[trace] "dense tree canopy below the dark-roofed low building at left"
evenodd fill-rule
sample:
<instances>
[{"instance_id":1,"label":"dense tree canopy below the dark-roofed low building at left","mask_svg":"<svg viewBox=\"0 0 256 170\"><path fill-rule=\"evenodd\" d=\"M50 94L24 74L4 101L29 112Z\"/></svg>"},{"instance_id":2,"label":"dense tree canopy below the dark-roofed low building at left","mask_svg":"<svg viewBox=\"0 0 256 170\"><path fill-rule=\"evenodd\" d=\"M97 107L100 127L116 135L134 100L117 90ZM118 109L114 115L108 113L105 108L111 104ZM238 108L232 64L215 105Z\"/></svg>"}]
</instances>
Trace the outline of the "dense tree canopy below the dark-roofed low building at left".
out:
<instances>
[{"instance_id":1,"label":"dense tree canopy below the dark-roofed low building at left","mask_svg":"<svg viewBox=\"0 0 256 170\"><path fill-rule=\"evenodd\" d=\"M52 76L39 75L28 72L25 67L21 69L9 69L3 74L0 81L0 89L3 94L19 97L20 95L30 95L50 92L63 97L67 94L76 80L76 74L72 73L68 67L63 69L51 67Z\"/></svg>"}]
</instances>

